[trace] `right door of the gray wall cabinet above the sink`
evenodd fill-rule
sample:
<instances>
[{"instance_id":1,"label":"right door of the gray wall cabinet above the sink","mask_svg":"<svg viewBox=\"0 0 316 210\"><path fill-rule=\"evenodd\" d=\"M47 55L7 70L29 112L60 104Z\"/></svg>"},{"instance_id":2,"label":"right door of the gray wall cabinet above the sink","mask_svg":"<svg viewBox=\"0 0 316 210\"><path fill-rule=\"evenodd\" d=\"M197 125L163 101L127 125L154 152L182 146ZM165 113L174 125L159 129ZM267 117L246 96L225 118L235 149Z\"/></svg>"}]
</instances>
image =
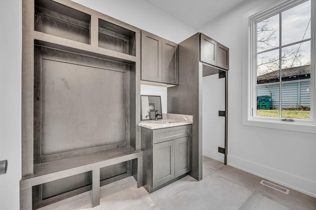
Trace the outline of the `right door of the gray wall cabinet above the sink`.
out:
<instances>
[{"instance_id":1,"label":"right door of the gray wall cabinet above the sink","mask_svg":"<svg viewBox=\"0 0 316 210\"><path fill-rule=\"evenodd\" d=\"M162 83L179 85L178 44L162 39Z\"/></svg>"}]
</instances>

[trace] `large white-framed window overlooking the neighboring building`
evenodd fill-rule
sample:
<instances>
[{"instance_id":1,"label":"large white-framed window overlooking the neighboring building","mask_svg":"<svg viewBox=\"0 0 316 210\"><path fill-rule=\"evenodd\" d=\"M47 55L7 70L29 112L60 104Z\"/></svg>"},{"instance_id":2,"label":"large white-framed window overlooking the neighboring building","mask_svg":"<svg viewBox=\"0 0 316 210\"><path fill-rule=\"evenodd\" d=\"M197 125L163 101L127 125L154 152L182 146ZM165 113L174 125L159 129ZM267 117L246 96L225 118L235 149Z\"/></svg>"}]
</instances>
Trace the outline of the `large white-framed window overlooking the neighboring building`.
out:
<instances>
[{"instance_id":1,"label":"large white-framed window overlooking the neighboring building","mask_svg":"<svg viewBox=\"0 0 316 210\"><path fill-rule=\"evenodd\" d=\"M314 8L283 0L247 18L247 120L315 124Z\"/></svg>"}]
</instances>

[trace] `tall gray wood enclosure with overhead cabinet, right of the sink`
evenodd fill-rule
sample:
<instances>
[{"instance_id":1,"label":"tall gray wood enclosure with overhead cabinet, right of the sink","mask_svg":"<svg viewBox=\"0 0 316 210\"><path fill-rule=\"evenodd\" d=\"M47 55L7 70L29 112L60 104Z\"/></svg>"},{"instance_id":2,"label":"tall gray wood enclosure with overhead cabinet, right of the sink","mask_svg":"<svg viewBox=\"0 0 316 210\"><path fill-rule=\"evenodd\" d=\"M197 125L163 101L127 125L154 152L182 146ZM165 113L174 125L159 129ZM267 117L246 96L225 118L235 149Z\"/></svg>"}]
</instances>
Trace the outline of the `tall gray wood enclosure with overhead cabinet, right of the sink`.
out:
<instances>
[{"instance_id":1,"label":"tall gray wood enclosure with overhead cabinet, right of the sink","mask_svg":"<svg viewBox=\"0 0 316 210\"><path fill-rule=\"evenodd\" d=\"M225 49L222 53L218 49ZM227 161L228 132L228 67L229 49L202 33L179 43L180 86L167 89L167 112L193 115L192 125L192 171L190 176L202 180L202 77L225 71L225 164ZM224 57L223 57L224 56ZM222 65L223 60L226 60ZM219 65L220 63L220 65ZM222 66L222 67L221 67ZM224 77L224 76L223 76Z\"/></svg>"}]
</instances>

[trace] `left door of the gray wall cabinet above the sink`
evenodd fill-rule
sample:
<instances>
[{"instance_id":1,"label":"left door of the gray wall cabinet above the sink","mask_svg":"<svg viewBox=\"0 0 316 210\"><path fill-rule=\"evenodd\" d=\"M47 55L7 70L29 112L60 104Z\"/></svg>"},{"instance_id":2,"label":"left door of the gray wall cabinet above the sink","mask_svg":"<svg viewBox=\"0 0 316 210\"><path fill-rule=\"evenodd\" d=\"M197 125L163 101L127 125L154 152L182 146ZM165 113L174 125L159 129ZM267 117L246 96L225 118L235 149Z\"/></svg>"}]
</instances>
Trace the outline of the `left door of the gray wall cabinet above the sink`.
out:
<instances>
[{"instance_id":1,"label":"left door of the gray wall cabinet above the sink","mask_svg":"<svg viewBox=\"0 0 316 210\"><path fill-rule=\"evenodd\" d=\"M162 81L162 38L142 30L142 72L141 79L160 82Z\"/></svg>"}]
</instances>

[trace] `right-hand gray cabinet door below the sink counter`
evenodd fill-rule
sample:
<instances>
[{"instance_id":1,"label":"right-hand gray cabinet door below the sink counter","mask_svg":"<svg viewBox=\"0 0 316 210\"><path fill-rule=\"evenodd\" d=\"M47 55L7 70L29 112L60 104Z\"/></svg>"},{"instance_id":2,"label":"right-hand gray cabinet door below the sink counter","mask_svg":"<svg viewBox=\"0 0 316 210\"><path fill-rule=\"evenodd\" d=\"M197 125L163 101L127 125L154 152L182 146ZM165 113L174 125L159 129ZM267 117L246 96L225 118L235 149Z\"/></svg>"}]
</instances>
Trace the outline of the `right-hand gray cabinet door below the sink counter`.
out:
<instances>
[{"instance_id":1,"label":"right-hand gray cabinet door below the sink counter","mask_svg":"<svg viewBox=\"0 0 316 210\"><path fill-rule=\"evenodd\" d=\"M188 136L174 141L175 177L179 177L191 170L192 137Z\"/></svg>"}]
</instances>

